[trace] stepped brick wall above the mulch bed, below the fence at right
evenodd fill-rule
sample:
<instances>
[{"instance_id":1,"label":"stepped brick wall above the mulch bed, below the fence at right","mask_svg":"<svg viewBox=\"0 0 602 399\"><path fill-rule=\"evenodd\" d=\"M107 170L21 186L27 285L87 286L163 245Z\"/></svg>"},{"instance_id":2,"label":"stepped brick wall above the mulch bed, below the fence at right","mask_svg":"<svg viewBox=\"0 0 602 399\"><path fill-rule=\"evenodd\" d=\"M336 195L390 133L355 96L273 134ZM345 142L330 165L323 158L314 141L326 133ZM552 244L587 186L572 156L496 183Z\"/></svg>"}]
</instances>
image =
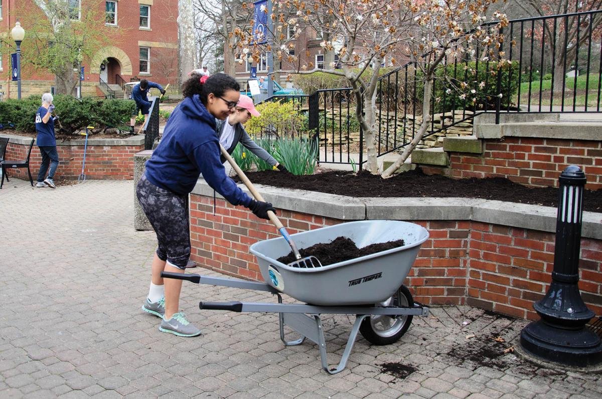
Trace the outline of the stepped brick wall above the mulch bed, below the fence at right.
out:
<instances>
[{"instance_id":1,"label":"stepped brick wall above the mulch bed, below the fence at right","mask_svg":"<svg viewBox=\"0 0 602 399\"><path fill-rule=\"evenodd\" d=\"M557 187L568 165L582 168L586 189L602 189L602 140L562 140L533 137L481 139L483 154L449 152L448 168L422 166L427 174L456 178L506 177L515 183Z\"/></svg>"}]
</instances>

